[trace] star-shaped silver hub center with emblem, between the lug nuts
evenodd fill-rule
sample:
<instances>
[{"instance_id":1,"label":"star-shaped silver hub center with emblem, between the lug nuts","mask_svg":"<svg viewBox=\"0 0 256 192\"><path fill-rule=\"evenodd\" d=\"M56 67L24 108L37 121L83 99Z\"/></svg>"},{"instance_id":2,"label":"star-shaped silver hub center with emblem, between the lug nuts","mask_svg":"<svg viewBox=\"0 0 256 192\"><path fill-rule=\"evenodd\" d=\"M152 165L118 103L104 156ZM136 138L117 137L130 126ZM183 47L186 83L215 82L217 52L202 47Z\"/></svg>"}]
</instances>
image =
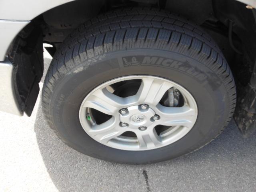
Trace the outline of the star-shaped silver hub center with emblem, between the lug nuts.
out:
<instances>
[{"instance_id":1,"label":"star-shaped silver hub center with emblem, between the lug nuts","mask_svg":"<svg viewBox=\"0 0 256 192\"><path fill-rule=\"evenodd\" d=\"M120 114L120 121L129 124L130 128L138 128L139 126L150 126L153 121L152 116L155 115L151 108L142 109L139 105L127 108L126 114Z\"/></svg>"}]
</instances>

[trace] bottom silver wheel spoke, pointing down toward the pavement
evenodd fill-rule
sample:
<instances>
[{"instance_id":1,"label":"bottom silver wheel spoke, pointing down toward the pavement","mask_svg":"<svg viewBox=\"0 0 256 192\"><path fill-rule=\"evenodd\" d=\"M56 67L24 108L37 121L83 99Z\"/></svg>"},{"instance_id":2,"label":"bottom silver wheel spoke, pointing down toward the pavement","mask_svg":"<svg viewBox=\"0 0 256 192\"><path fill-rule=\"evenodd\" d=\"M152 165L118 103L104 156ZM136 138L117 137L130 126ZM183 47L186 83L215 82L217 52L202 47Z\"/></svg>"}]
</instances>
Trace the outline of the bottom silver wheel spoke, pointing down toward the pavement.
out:
<instances>
[{"instance_id":1,"label":"bottom silver wheel spoke, pointing down toward the pavement","mask_svg":"<svg viewBox=\"0 0 256 192\"><path fill-rule=\"evenodd\" d=\"M162 145L161 138L158 136L155 129L146 131L145 133L142 131L137 132L136 136L138 138L140 148L149 149L149 148L155 148Z\"/></svg>"}]
</instances>

